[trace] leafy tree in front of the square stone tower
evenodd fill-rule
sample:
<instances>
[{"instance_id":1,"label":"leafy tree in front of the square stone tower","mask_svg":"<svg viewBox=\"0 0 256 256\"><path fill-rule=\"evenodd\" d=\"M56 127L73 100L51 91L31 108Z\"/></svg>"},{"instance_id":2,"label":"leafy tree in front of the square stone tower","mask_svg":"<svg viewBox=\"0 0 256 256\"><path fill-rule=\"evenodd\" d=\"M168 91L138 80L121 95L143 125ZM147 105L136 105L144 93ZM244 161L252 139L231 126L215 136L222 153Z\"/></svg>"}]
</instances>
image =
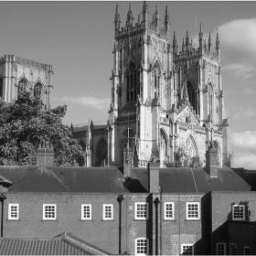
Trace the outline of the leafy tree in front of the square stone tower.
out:
<instances>
[{"instance_id":1,"label":"leafy tree in front of the square stone tower","mask_svg":"<svg viewBox=\"0 0 256 256\"><path fill-rule=\"evenodd\" d=\"M61 120L67 106L44 111L43 102L29 92L15 103L0 100L0 165L36 165L37 148L50 143L56 165L78 165L84 152Z\"/></svg>"}]
</instances>

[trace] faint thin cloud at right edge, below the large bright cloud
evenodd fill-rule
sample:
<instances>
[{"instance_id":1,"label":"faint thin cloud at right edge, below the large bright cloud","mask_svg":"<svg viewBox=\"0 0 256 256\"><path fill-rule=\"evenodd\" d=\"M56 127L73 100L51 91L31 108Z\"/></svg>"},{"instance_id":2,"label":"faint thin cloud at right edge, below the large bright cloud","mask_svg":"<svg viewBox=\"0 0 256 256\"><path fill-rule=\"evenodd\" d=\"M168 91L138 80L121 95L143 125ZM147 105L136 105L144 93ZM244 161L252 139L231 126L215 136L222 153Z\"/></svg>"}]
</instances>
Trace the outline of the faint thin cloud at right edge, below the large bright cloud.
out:
<instances>
[{"instance_id":1,"label":"faint thin cloud at right edge, below the large bright cloud","mask_svg":"<svg viewBox=\"0 0 256 256\"><path fill-rule=\"evenodd\" d=\"M245 63L232 63L226 67L223 67L222 70L232 71L238 78L247 80L256 74L256 68L253 64Z\"/></svg>"}]
</instances>

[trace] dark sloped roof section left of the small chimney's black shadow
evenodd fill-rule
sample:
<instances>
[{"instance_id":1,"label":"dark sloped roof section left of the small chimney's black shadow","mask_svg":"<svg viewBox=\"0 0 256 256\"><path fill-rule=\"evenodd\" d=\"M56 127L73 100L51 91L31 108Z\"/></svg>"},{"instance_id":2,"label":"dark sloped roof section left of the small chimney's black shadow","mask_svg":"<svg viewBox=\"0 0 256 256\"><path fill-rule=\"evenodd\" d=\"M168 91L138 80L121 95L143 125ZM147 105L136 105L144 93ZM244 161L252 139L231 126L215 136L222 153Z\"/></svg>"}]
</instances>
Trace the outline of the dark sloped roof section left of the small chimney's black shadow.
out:
<instances>
[{"instance_id":1,"label":"dark sloped roof section left of the small chimney's black shadow","mask_svg":"<svg viewBox=\"0 0 256 256\"><path fill-rule=\"evenodd\" d=\"M13 192L126 192L116 167L0 166L0 175Z\"/></svg>"}]
</instances>

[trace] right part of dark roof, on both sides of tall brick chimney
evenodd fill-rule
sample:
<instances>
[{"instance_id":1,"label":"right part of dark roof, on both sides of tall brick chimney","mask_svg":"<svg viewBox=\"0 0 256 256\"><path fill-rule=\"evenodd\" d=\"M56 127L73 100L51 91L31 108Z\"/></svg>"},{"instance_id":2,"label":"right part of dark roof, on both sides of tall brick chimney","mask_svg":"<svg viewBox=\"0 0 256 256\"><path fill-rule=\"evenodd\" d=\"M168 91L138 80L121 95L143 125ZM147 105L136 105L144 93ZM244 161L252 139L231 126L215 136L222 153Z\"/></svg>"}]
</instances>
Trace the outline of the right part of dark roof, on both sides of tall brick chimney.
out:
<instances>
[{"instance_id":1,"label":"right part of dark roof, on both sides of tall brick chimney","mask_svg":"<svg viewBox=\"0 0 256 256\"><path fill-rule=\"evenodd\" d=\"M148 173L144 168L133 168L131 180L135 180L148 191ZM159 168L159 185L166 193L250 191L251 186L229 168L218 170L218 177L210 177L203 168ZM131 184L130 187L133 187ZM143 192L142 187L133 187L133 193Z\"/></svg>"}]
</instances>

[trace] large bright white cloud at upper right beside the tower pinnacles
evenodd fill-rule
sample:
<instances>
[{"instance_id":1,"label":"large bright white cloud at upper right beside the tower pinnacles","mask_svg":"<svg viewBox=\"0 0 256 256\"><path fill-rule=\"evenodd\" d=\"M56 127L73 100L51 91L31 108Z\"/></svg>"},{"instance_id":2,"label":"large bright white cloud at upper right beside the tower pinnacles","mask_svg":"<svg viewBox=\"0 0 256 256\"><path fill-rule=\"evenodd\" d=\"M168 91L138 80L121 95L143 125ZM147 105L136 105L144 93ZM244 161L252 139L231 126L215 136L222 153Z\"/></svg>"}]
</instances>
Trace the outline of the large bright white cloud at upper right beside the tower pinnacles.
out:
<instances>
[{"instance_id":1,"label":"large bright white cloud at upper right beside the tower pinnacles","mask_svg":"<svg viewBox=\"0 0 256 256\"><path fill-rule=\"evenodd\" d=\"M220 46L256 55L256 18L236 19L219 27Z\"/></svg>"}]
</instances>

